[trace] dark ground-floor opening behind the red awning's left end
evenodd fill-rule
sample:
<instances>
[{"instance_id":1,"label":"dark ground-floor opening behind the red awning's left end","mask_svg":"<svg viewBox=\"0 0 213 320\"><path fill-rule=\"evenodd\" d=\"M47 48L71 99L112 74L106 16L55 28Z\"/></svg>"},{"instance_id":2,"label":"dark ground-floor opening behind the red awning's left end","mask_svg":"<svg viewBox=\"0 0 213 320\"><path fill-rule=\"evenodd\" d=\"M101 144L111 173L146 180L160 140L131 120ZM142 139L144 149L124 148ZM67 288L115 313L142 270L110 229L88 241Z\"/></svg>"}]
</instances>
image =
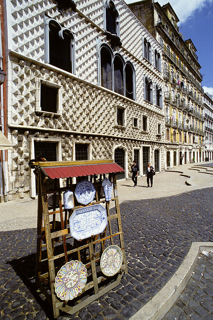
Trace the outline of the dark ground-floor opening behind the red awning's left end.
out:
<instances>
[{"instance_id":1,"label":"dark ground-floor opening behind the red awning's left end","mask_svg":"<svg viewBox=\"0 0 213 320\"><path fill-rule=\"evenodd\" d=\"M47 161L57 161L57 142L34 142L35 159L45 158ZM54 188L54 180L47 180L47 190ZM37 180L35 184L36 195L38 194Z\"/></svg>"}]
</instances>

